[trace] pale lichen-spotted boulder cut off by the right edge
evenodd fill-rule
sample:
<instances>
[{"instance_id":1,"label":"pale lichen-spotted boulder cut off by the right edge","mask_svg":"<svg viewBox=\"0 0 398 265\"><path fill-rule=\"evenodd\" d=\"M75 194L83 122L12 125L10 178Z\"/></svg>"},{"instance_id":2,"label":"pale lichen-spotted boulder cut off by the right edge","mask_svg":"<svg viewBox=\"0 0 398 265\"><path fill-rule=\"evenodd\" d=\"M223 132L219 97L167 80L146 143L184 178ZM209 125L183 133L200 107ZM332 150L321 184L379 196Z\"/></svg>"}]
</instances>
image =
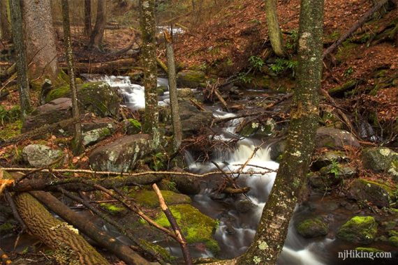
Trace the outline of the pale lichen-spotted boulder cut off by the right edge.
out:
<instances>
[{"instance_id":1,"label":"pale lichen-spotted boulder cut off by the right edge","mask_svg":"<svg viewBox=\"0 0 398 265\"><path fill-rule=\"evenodd\" d=\"M389 172L398 165L398 153L386 147L367 148L362 151L362 165L374 172ZM391 170L390 170L391 169Z\"/></svg>"}]
</instances>

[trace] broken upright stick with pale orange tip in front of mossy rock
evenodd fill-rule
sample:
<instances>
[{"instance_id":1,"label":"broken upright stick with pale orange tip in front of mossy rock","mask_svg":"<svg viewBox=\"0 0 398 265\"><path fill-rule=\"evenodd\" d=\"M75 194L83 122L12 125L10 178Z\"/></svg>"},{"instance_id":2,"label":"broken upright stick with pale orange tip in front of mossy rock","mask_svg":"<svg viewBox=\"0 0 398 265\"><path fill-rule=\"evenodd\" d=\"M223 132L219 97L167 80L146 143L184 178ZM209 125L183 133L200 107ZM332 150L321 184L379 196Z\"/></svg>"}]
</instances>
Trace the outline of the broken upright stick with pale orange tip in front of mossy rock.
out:
<instances>
[{"instance_id":1,"label":"broken upright stick with pale orange tip in front of mossy rock","mask_svg":"<svg viewBox=\"0 0 398 265\"><path fill-rule=\"evenodd\" d=\"M168 218L168 221L170 222L172 229L174 229L175 235L177 236L177 239L178 239L178 243L179 243L179 245L181 245L182 255L184 256L185 263L188 265L192 265L193 262L192 262L192 258L191 258L191 253L189 253L188 245L186 243L184 234L182 234L182 231L179 228L177 221L175 220L174 216L172 215L170 209L168 209L167 204L165 204L165 199L163 198L163 195L161 194L161 191L159 190L158 185L156 185L156 183L154 183L152 185L152 188L154 188L156 195L158 195L159 204L161 205L161 209L162 209L163 213L165 213L166 217Z\"/></svg>"}]
</instances>

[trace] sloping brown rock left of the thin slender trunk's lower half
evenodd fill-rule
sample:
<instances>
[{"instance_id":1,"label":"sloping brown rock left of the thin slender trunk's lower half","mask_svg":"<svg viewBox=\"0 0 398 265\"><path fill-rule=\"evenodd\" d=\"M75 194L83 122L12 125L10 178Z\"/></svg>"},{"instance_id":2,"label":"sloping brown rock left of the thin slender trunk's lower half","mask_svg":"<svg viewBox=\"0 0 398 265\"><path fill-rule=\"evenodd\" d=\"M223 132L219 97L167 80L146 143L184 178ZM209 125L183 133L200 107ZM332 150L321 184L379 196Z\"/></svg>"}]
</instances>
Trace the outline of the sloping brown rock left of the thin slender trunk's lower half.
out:
<instances>
[{"instance_id":1,"label":"sloping brown rock left of the thin slender trunk's lower half","mask_svg":"<svg viewBox=\"0 0 398 265\"><path fill-rule=\"evenodd\" d=\"M36 108L26 117L22 124L22 132L27 132L58 121L72 118L71 98L57 98Z\"/></svg>"}]
</instances>

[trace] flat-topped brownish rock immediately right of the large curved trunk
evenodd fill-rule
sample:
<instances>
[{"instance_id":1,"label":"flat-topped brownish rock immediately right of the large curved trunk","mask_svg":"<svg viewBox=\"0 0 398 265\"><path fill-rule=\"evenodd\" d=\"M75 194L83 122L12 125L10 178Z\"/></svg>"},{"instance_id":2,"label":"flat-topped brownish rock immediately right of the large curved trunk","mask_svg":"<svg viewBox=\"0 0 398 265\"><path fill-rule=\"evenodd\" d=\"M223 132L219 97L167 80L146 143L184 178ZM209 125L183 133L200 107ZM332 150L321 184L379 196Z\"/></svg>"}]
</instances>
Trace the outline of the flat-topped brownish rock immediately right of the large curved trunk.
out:
<instances>
[{"instance_id":1,"label":"flat-topped brownish rock immediately right of the large curved trunk","mask_svg":"<svg viewBox=\"0 0 398 265\"><path fill-rule=\"evenodd\" d=\"M360 143L350 132L330 127L320 127L316 130L315 144L317 148L328 147L337 150L343 150L344 146L360 147Z\"/></svg>"}]
</instances>

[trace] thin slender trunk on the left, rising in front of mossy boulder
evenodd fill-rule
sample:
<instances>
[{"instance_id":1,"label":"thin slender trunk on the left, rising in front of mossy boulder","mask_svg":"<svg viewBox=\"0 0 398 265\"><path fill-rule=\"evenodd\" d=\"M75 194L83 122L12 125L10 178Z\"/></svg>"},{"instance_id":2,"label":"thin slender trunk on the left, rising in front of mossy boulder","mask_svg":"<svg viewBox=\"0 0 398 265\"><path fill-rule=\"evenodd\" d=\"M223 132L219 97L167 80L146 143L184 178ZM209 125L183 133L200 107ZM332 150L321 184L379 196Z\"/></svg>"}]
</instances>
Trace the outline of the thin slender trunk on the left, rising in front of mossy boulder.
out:
<instances>
[{"instance_id":1,"label":"thin slender trunk on the left, rising in front of mossy boulder","mask_svg":"<svg viewBox=\"0 0 398 265\"><path fill-rule=\"evenodd\" d=\"M65 58L68 63L69 86L71 89L72 98L72 112L73 119L78 122L75 123L75 134L73 135L72 151L75 156L82 153L82 123L80 123L80 111L78 104L78 89L76 88L75 66L73 65L73 50L71 44L71 26L69 22L69 6L68 0L61 0L62 6L62 24L64 26L64 45Z\"/></svg>"}]
</instances>

